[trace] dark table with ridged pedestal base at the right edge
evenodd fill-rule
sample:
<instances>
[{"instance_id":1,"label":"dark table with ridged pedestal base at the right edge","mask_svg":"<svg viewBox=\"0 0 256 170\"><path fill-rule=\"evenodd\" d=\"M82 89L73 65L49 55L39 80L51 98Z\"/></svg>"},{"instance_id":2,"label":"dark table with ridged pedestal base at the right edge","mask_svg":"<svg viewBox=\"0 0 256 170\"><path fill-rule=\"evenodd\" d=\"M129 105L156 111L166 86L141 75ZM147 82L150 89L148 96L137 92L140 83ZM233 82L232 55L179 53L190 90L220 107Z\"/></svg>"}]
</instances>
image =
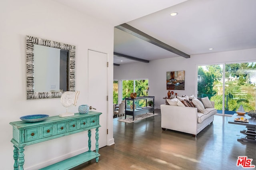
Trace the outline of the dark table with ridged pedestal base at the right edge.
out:
<instances>
[{"instance_id":1,"label":"dark table with ridged pedestal base at the right edge","mask_svg":"<svg viewBox=\"0 0 256 170\"><path fill-rule=\"evenodd\" d=\"M243 117L244 119L248 119L249 122L244 123L244 122L235 122L234 121L235 118L241 118L241 117ZM238 115L237 113L235 113L231 117L230 121L228 121L228 123L246 126L246 130L240 131L240 132L245 132L246 136L238 138L237 139L238 141L256 142L256 119L251 118L248 115Z\"/></svg>"}]
</instances>

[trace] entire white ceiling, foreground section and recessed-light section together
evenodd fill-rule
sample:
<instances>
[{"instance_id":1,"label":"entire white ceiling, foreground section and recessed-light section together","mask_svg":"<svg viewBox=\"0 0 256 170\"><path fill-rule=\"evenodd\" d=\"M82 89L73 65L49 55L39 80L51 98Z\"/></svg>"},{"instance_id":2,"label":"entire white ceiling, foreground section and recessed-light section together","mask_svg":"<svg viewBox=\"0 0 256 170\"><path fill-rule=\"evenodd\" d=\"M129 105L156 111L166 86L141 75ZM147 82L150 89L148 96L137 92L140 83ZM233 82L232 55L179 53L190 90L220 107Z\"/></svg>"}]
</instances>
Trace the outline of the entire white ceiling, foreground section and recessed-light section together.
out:
<instances>
[{"instance_id":1,"label":"entire white ceiling, foreground section and recessed-light section together","mask_svg":"<svg viewBox=\"0 0 256 170\"><path fill-rule=\"evenodd\" d=\"M129 24L188 55L256 48L256 0L55 1L112 26ZM146 60L180 57L117 28L114 52ZM127 62L138 61L114 56L114 63Z\"/></svg>"}]
</instances>

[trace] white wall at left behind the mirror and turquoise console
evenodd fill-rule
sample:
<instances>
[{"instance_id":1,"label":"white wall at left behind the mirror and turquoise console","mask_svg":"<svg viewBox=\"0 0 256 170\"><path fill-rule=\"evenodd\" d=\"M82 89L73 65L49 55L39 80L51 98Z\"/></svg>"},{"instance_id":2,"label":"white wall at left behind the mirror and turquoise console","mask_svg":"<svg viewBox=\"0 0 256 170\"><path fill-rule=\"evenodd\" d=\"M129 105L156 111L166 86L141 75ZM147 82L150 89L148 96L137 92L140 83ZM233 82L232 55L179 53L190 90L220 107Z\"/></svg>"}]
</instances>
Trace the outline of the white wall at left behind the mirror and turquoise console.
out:
<instances>
[{"instance_id":1,"label":"white wall at left behind the mirror and turquoise console","mask_svg":"<svg viewBox=\"0 0 256 170\"><path fill-rule=\"evenodd\" d=\"M112 121L114 28L51 0L2 0L0 3L0 129L1 169L13 168L12 126L9 122L31 114L56 116L66 112L60 99L26 100L26 35L76 45L76 107L87 104L88 49L108 53L108 144L114 142ZM87 132L25 147L26 169L38 169L86 149ZM94 144L92 144L94 145Z\"/></svg>"}]
</instances>

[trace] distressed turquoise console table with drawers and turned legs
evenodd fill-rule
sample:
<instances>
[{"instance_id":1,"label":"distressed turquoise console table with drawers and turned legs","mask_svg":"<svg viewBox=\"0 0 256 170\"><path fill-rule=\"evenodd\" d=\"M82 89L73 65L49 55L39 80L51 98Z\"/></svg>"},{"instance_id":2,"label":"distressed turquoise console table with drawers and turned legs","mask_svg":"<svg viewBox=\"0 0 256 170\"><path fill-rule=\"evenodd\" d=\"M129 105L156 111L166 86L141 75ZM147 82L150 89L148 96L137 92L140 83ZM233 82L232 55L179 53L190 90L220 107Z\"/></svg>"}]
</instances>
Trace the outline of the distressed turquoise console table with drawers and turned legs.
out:
<instances>
[{"instance_id":1,"label":"distressed turquoise console table with drawers and turned legs","mask_svg":"<svg viewBox=\"0 0 256 170\"><path fill-rule=\"evenodd\" d=\"M70 134L82 132L88 130L88 151L82 154L78 154L74 157L62 160L56 164L52 164L43 169L45 170L67 170L78 166L88 160L96 158L96 162L99 160L99 127L100 127L100 115L102 113L90 111L88 114L75 113L71 117L48 117L44 121L28 123L24 121L11 122L13 127L13 138L11 142L14 144L13 158L14 158L14 170L23 170L24 159L24 147L30 144L36 144L67 136ZM91 151L91 129L96 128L96 150Z\"/></svg>"}]
</instances>

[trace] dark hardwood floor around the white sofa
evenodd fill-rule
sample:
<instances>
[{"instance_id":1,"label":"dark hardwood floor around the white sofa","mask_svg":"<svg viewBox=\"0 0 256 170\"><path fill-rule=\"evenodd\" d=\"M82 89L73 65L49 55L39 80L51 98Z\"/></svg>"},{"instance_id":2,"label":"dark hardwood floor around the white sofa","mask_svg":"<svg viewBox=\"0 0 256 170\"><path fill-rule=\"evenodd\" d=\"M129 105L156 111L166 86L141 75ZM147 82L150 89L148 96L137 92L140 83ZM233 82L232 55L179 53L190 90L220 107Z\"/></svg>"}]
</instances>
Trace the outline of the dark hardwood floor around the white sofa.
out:
<instances>
[{"instance_id":1,"label":"dark hardwood floor around the white sofa","mask_svg":"<svg viewBox=\"0 0 256 170\"><path fill-rule=\"evenodd\" d=\"M161 114L134 123L115 118L115 144L100 148L99 162L94 159L73 170L241 170L236 166L238 156L248 156L256 165L256 143L238 142L245 127L228 124L230 118L215 115L196 138L163 131Z\"/></svg>"}]
</instances>

